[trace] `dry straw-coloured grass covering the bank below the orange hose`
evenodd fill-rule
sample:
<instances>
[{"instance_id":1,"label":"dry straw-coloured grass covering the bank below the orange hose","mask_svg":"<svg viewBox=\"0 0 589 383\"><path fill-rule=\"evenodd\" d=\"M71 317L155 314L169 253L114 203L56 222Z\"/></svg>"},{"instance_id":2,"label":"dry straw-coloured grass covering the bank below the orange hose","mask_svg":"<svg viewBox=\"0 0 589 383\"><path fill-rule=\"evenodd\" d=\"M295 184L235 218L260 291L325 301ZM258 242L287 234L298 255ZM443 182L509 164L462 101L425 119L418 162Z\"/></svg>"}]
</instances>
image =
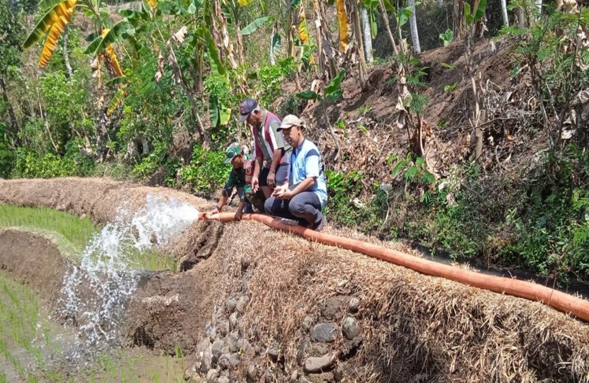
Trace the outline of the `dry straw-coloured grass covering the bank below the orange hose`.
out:
<instances>
[{"instance_id":1,"label":"dry straw-coloured grass covering the bank below the orange hose","mask_svg":"<svg viewBox=\"0 0 589 383\"><path fill-rule=\"evenodd\" d=\"M251 306L243 321L250 340L279 345L290 368L305 338L305 316L319 318L329 297L353 295L365 334L347 362L354 381L589 381L589 326L541 303L424 276L254 222L227 224L218 255L226 259L221 284L228 295L241 288L241 257L251 259L245 284Z\"/></svg>"}]
</instances>

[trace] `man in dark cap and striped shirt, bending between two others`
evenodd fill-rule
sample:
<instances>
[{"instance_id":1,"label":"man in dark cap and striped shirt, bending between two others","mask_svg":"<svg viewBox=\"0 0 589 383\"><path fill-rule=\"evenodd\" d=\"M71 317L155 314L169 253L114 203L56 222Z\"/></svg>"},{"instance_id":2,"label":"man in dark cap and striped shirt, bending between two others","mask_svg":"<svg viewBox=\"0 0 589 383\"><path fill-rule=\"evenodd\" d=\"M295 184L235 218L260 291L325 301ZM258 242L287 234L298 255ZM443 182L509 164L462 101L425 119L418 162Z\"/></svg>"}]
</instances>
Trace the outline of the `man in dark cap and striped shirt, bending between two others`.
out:
<instances>
[{"instance_id":1,"label":"man in dark cap and striped shirt, bending between two others","mask_svg":"<svg viewBox=\"0 0 589 383\"><path fill-rule=\"evenodd\" d=\"M289 159L292 148L284 142L284 137L277 129L280 119L275 114L260 108L256 100L247 98L239 108L240 121L247 121L252 126L254 137L254 174L252 176L252 192L258 187L266 198L277 186L289 181ZM266 166L263 166L264 161Z\"/></svg>"}]
</instances>

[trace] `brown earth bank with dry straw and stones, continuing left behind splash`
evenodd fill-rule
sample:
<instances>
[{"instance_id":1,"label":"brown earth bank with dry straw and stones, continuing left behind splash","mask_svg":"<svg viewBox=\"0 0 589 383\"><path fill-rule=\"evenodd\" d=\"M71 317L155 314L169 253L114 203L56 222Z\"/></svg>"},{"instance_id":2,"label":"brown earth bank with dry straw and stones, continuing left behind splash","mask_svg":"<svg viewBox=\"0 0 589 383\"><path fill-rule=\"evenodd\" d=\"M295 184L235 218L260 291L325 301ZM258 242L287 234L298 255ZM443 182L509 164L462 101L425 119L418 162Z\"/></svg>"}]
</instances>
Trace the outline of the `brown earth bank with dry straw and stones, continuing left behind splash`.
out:
<instances>
[{"instance_id":1,"label":"brown earth bank with dry straw and stones, continuing left behind splash","mask_svg":"<svg viewBox=\"0 0 589 383\"><path fill-rule=\"evenodd\" d=\"M123 201L139 207L148 193L198 209L213 205L102 179L0 181L1 202L65 208L102 222ZM255 222L197 222L170 249L187 271L144 280L131 303L128 342L168 352L181 344L194 381L589 379L589 325L540 303Z\"/></svg>"}]
</instances>

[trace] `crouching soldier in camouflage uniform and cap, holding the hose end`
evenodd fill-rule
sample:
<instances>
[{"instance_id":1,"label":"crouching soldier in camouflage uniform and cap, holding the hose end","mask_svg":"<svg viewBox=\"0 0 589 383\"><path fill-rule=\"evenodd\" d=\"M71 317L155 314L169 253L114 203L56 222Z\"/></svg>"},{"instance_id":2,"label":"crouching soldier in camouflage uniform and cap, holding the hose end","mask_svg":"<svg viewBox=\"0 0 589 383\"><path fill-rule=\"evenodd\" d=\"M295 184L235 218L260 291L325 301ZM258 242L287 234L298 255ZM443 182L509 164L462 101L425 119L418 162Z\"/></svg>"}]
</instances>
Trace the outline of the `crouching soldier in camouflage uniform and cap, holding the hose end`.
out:
<instances>
[{"instance_id":1,"label":"crouching soldier in camouflage uniform and cap, holding the hose end","mask_svg":"<svg viewBox=\"0 0 589 383\"><path fill-rule=\"evenodd\" d=\"M261 190L252 193L252 176L255 161L252 160L249 154L243 153L243 148L238 143L231 144L225 151L225 156L225 162L233 165L233 169L229 174L229 180L223 187L219 203L210 214L221 212L223 206L227 204L231 193L233 193L234 187L237 189L237 195L239 196L239 206L235 213L237 220L241 219L242 213L252 212L252 204L257 210L263 212L265 202L263 193Z\"/></svg>"}]
</instances>

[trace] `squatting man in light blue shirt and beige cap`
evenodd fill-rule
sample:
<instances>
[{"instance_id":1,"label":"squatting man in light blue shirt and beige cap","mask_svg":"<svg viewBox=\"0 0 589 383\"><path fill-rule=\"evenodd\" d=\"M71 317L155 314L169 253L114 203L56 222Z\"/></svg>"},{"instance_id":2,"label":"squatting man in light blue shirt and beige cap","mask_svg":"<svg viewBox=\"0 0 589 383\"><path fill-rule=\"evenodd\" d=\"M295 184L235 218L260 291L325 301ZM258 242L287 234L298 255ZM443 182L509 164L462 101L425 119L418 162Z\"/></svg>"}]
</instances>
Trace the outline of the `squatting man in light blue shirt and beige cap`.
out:
<instances>
[{"instance_id":1,"label":"squatting man in light blue shirt and beige cap","mask_svg":"<svg viewBox=\"0 0 589 383\"><path fill-rule=\"evenodd\" d=\"M277 131L293 147L289 184L277 186L264 203L266 213L296 219L302 226L320 231L325 226L321 209L327 203L327 187L319 150L303 135L305 124L295 115L284 117Z\"/></svg>"}]
</instances>

